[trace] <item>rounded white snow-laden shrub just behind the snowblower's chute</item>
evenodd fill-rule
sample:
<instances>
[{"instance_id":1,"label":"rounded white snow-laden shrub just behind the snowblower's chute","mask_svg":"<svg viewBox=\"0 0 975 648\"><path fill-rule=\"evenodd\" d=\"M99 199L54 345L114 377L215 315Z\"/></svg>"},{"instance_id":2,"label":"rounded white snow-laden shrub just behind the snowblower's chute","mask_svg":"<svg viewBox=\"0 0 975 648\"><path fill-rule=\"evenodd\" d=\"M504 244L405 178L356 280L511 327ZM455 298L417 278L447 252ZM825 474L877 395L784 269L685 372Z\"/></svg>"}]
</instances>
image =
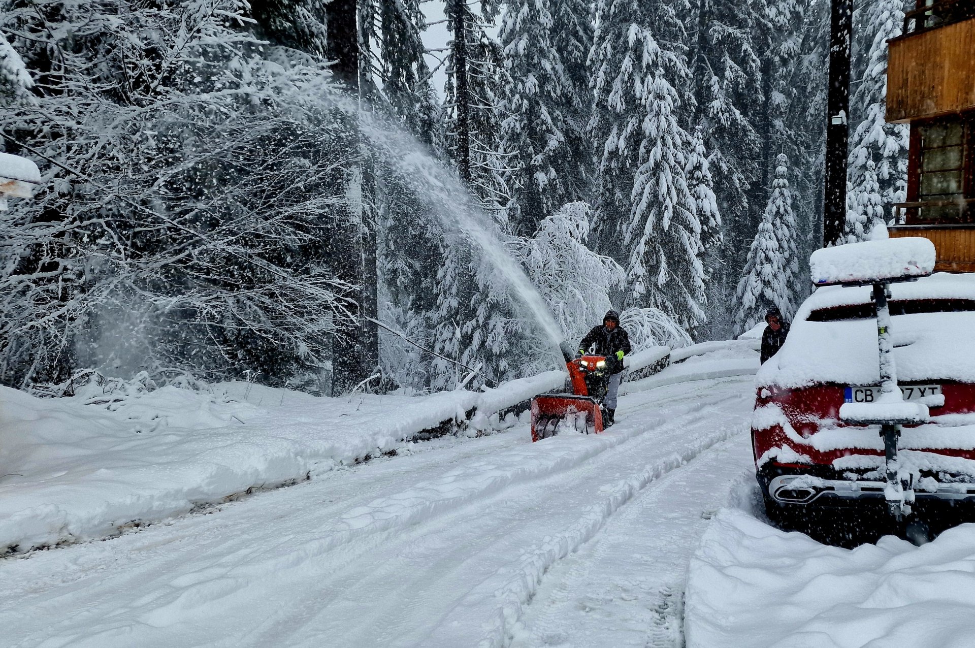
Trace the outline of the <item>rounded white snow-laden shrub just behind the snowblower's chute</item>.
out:
<instances>
[{"instance_id":1,"label":"rounded white snow-laden shrub just behind the snowblower's chute","mask_svg":"<svg viewBox=\"0 0 975 648\"><path fill-rule=\"evenodd\" d=\"M591 215L586 203L569 203L542 220L532 238L510 244L569 340L603 321L610 292L626 282L618 263L586 247Z\"/></svg>"}]
</instances>

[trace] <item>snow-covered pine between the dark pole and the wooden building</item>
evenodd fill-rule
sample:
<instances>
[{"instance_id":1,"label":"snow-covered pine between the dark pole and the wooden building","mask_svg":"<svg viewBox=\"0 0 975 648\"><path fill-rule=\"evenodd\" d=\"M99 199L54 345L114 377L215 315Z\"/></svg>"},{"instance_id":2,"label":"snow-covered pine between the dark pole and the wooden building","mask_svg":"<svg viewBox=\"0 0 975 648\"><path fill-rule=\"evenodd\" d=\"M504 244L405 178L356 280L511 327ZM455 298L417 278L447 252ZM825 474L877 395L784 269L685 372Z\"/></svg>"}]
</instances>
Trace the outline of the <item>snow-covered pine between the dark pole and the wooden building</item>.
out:
<instances>
[{"instance_id":1,"label":"snow-covered pine between the dark pole and the wooden building","mask_svg":"<svg viewBox=\"0 0 975 648\"><path fill-rule=\"evenodd\" d=\"M872 42L863 79L850 101L863 116L850 136L847 178L853 195L846 222L849 241L865 240L864 228L869 228L877 216L873 212L876 200L869 195L871 192L876 191L881 204L886 205L904 202L907 192L909 128L906 124L887 124L884 120L887 40L901 33L904 2L878 0L869 3L865 11L866 33L872 36ZM868 169L871 166L873 172ZM887 208L883 211L881 219L889 220L893 214Z\"/></svg>"}]
</instances>

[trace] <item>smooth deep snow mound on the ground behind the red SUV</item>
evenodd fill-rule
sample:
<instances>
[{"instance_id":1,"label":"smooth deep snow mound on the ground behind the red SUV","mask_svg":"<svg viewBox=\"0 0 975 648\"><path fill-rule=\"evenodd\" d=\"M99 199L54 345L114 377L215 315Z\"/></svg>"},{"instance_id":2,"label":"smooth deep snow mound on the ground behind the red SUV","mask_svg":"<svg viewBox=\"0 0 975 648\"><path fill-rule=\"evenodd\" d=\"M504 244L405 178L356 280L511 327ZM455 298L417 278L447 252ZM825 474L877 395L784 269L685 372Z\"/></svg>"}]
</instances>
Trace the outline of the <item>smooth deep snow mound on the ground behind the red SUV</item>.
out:
<instances>
[{"instance_id":1,"label":"smooth deep snow mound on the ground behind the red SUV","mask_svg":"<svg viewBox=\"0 0 975 648\"><path fill-rule=\"evenodd\" d=\"M967 648L975 524L845 550L722 510L688 571L687 648Z\"/></svg>"}]
</instances>

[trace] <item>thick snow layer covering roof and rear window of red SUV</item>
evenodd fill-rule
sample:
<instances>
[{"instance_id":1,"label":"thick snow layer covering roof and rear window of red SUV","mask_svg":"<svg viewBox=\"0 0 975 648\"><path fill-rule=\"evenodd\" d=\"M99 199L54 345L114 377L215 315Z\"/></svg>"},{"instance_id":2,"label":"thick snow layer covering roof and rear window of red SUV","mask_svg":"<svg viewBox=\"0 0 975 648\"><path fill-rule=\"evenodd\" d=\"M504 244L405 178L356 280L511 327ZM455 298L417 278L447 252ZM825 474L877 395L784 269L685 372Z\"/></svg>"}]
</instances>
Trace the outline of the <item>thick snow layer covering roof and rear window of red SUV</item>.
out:
<instances>
[{"instance_id":1,"label":"thick snow layer covering roof and rear window of red SUV","mask_svg":"<svg viewBox=\"0 0 975 648\"><path fill-rule=\"evenodd\" d=\"M759 387L799 388L816 383L879 383L876 320L813 322L809 315L838 306L869 304L871 288L829 286L800 307L785 345L756 376ZM975 275L937 273L891 286L892 300L972 299ZM975 312L895 315L894 359L900 381L975 382Z\"/></svg>"}]
</instances>

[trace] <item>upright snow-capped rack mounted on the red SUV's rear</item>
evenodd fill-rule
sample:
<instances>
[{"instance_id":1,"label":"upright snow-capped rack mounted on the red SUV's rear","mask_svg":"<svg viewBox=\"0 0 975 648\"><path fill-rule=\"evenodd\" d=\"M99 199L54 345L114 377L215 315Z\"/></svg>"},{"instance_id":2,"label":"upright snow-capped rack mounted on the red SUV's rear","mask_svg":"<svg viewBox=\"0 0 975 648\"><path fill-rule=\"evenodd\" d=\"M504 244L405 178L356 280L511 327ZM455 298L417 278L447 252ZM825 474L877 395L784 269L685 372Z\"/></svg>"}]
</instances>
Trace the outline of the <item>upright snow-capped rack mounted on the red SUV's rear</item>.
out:
<instances>
[{"instance_id":1,"label":"upright snow-capped rack mounted on the red SUV's rear","mask_svg":"<svg viewBox=\"0 0 975 648\"><path fill-rule=\"evenodd\" d=\"M928 419L927 405L904 400L897 385L897 365L887 298L894 282L912 282L934 271L934 244L927 239L901 238L818 249L809 258L815 286L873 286L877 314L880 396L873 402L844 402L839 419L853 425L879 425L883 438L887 511L900 521L911 515L914 489L911 476L901 471L897 439L901 426Z\"/></svg>"}]
</instances>

